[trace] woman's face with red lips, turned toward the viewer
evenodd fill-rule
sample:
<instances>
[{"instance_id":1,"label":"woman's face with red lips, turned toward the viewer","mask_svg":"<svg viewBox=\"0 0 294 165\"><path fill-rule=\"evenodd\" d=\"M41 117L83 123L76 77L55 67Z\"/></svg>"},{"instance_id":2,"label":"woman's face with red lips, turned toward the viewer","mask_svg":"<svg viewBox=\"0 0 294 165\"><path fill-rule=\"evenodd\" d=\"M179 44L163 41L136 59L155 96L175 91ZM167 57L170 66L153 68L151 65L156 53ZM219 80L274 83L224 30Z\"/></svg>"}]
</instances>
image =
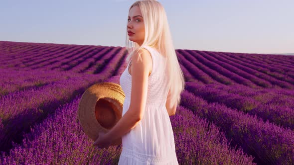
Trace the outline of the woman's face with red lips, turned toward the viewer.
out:
<instances>
[{"instance_id":1,"label":"woman's face with red lips, turned toward the viewer","mask_svg":"<svg viewBox=\"0 0 294 165\"><path fill-rule=\"evenodd\" d=\"M130 9L127 29L129 39L141 46L145 38L145 27L139 6L134 6ZM131 33L129 31L131 31Z\"/></svg>"}]
</instances>

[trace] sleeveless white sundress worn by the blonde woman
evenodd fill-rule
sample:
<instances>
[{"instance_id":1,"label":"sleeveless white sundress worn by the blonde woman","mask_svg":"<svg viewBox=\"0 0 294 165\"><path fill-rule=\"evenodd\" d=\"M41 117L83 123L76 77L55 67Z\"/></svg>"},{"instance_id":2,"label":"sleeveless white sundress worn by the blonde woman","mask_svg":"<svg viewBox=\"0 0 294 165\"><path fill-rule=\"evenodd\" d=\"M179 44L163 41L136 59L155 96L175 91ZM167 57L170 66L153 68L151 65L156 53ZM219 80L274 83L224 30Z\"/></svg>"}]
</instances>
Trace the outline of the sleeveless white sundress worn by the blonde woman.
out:
<instances>
[{"instance_id":1,"label":"sleeveless white sundress worn by the blonde woman","mask_svg":"<svg viewBox=\"0 0 294 165\"><path fill-rule=\"evenodd\" d=\"M152 57L146 108L138 125L122 136L118 165L178 165L173 130L165 107L168 88L163 70L164 57L152 47L144 48ZM126 96L122 115L128 111L131 102L132 76L128 67L120 77Z\"/></svg>"}]
</instances>

